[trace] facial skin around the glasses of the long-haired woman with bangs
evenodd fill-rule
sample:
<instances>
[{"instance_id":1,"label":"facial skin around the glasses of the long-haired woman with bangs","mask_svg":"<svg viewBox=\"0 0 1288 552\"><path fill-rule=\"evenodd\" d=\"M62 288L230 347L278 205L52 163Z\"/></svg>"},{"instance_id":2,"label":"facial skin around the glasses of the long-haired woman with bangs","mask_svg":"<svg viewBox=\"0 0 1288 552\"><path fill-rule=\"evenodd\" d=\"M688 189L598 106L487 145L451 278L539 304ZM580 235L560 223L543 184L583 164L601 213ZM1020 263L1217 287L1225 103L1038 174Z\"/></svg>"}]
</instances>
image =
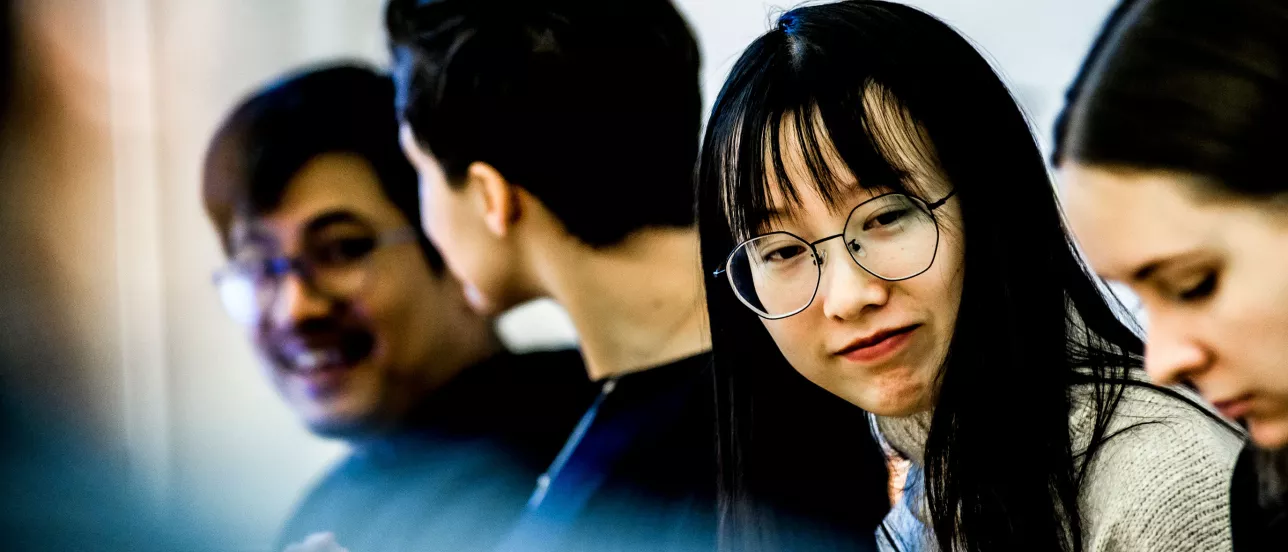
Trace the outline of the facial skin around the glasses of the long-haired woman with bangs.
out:
<instances>
[{"instance_id":1,"label":"facial skin around the glasses of the long-haired woman with bangs","mask_svg":"<svg viewBox=\"0 0 1288 552\"><path fill-rule=\"evenodd\" d=\"M832 174L850 184L829 205L811 181L800 148L784 145L783 162L800 205L784 208L777 184L770 183L779 216L764 232L790 232L808 242L835 235L846 228L857 205L887 192L866 188L831 152ZM925 194L921 199L926 203L952 192L936 169L912 169L912 189ZM795 315L762 320L797 372L880 416L908 416L934 407L938 373L957 323L963 261L961 211L954 197L933 212L939 228L938 252L925 273L899 282L884 281L855 262L846 251L848 238L828 239L818 244L823 262L813 302Z\"/></svg>"}]
</instances>

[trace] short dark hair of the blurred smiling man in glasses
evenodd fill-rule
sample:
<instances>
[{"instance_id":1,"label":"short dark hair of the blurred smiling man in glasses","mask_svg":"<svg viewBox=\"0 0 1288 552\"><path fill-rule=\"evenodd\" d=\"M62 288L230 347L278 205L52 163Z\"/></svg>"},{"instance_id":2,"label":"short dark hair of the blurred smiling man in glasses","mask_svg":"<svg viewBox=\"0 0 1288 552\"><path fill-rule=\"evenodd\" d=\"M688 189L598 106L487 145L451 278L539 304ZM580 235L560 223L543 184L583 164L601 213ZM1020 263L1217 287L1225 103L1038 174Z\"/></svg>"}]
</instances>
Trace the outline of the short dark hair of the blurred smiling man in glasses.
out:
<instances>
[{"instance_id":1,"label":"short dark hair of the blurred smiling man in glasses","mask_svg":"<svg viewBox=\"0 0 1288 552\"><path fill-rule=\"evenodd\" d=\"M206 153L202 196L224 252L232 252L234 216L276 210L291 176L325 153L353 153L371 163L385 197L417 228L430 268L443 268L420 229L416 171L398 145L393 80L350 63L281 77L220 125Z\"/></svg>"}]
</instances>

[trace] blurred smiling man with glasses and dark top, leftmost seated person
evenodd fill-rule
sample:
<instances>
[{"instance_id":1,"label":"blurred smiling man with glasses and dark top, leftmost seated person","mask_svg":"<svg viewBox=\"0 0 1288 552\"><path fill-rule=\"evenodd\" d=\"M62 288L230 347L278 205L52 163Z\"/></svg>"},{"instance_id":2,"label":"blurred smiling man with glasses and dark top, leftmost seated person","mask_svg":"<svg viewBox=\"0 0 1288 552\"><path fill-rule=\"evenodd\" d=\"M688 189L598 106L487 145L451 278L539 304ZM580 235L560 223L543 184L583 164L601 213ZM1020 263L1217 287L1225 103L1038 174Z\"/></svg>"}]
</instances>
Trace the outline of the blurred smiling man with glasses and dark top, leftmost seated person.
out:
<instances>
[{"instance_id":1,"label":"blurred smiling man with glasses and dark top, leftmost seated person","mask_svg":"<svg viewBox=\"0 0 1288 552\"><path fill-rule=\"evenodd\" d=\"M591 394L573 351L511 355L416 225L393 84L354 66L243 100L206 158L215 286L283 400L354 454L277 549L487 549Z\"/></svg>"}]
</instances>

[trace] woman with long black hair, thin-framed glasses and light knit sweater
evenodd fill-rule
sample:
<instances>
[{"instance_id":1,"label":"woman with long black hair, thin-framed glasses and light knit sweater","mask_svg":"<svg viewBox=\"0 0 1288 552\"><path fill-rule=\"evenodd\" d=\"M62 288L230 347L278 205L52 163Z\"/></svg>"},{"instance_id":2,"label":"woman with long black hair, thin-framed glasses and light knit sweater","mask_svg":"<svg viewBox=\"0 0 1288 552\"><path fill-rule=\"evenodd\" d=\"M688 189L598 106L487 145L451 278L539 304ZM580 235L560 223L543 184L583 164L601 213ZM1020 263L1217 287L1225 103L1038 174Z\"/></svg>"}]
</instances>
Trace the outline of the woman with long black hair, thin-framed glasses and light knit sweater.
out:
<instances>
[{"instance_id":1,"label":"woman with long black hair, thin-framed glasses and light knit sweater","mask_svg":"<svg viewBox=\"0 0 1288 552\"><path fill-rule=\"evenodd\" d=\"M726 80L698 188L729 548L773 546L795 368L911 461L882 549L1230 549L1238 430L1142 381L1028 122L952 28L787 12Z\"/></svg>"}]
</instances>

